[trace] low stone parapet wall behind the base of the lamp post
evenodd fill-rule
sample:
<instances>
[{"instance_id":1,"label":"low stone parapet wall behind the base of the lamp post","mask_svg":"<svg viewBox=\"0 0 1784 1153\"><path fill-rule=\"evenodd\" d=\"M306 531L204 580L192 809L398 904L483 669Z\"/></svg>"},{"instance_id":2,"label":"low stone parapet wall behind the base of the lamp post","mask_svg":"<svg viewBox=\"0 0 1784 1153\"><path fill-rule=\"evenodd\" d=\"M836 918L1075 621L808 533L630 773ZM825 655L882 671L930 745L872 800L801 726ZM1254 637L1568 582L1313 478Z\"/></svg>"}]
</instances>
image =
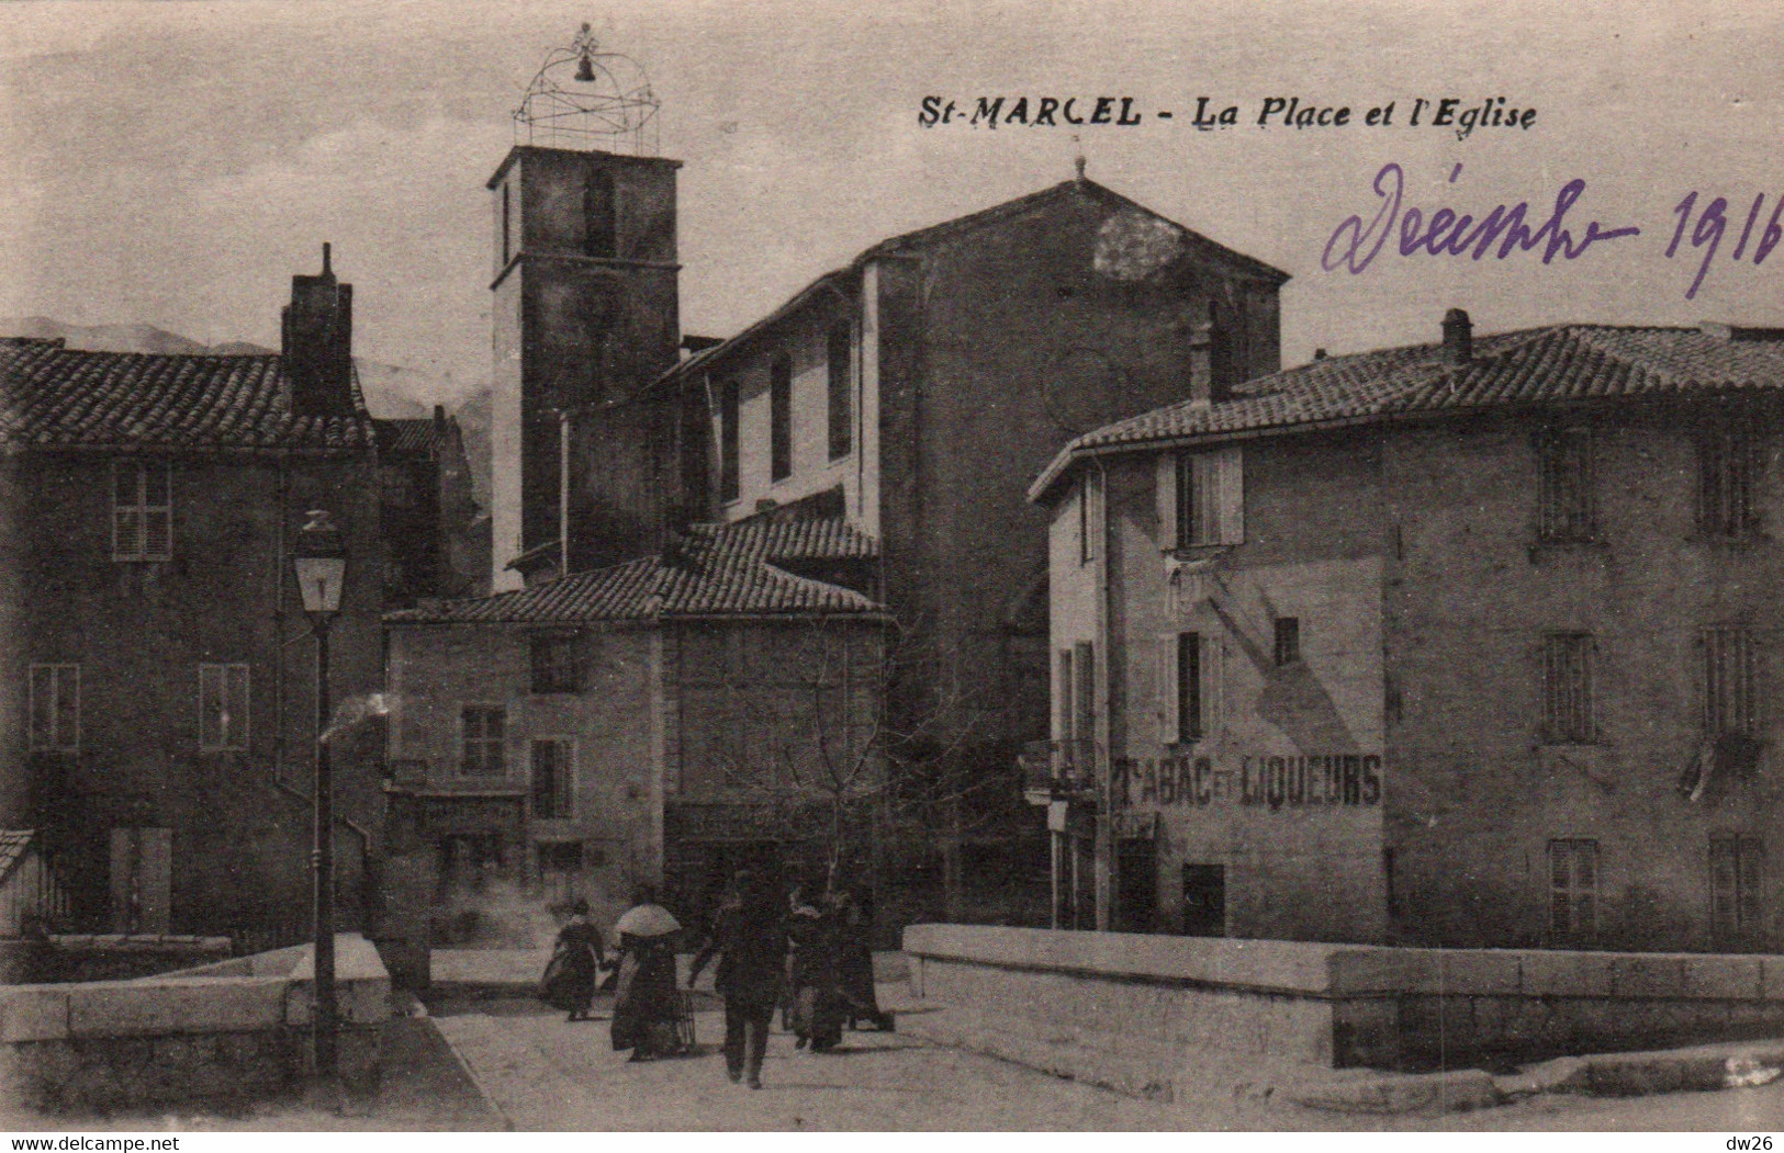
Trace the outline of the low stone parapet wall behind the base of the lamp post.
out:
<instances>
[{"instance_id":1,"label":"low stone parapet wall behind the base of the lamp post","mask_svg":"<svg viewBox=\"0 0 1784 1153\"><path fill-rule=\"evenodd\" d=\"M339 1069L376 1083L391 978L371 943L335 941ZM269 1096L310 1062L310 948L148 977L0 987L0 1098L89 1110Z\"/></svg>"}]
</instances>

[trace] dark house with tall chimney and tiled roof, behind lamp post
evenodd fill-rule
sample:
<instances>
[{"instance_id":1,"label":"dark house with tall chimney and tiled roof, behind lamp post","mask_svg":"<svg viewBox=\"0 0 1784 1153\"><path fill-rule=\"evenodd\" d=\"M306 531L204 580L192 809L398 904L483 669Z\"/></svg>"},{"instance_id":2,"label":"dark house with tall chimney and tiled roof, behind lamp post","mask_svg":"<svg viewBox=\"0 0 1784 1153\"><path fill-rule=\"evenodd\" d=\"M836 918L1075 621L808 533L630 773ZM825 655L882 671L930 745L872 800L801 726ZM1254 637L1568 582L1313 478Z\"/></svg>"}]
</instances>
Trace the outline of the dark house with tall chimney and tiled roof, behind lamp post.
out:
<instances>
[{"instance_id":1,"label":"dark house with tall chimney and tiled roof, behind lamp post","mask_svg":"<svg viewBox=\"0 0 1784 1153\"><path fill-rule=\"evenodd\" d=\"M326 248L293 278L277 356L0 342L0 825L37 830L77 921L305 932L305 510L330 510L350 552L332 691L382 681L378 454L350 346ZM335 754L348 920L371 754Z\"/></svg>"}]
</instances>

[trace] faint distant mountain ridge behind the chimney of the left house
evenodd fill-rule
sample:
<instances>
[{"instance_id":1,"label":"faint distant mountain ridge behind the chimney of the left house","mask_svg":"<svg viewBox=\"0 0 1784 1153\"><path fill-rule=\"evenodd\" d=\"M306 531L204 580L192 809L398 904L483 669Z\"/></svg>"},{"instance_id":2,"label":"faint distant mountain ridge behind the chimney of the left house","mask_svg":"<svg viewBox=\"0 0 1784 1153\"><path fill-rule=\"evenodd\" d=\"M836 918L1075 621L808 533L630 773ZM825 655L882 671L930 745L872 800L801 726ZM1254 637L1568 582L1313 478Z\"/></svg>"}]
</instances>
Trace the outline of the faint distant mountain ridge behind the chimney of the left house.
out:
<instances>
[{"instance_id":1,"label":"faint distant mountain ridge behind the chimney of the left house","mask_svg":"<svg viewBox=\"0 0 1784 1153\"><path fill-rule=\"evenodd\" d=\"M68 324L43 315L0 319L0 337L62 339L68 348L93 353L184 353L189 356L269 356L275 348L250 340L200 344L153 324ZM366 408L384 421L414 421L434 415L434 405L458 417L464 429L464 454L471 463L476 503L489 508L489 387L466 392L451 376L432 376L394 364L355 356L359 388Z\"/></svg>"}]
</instances>

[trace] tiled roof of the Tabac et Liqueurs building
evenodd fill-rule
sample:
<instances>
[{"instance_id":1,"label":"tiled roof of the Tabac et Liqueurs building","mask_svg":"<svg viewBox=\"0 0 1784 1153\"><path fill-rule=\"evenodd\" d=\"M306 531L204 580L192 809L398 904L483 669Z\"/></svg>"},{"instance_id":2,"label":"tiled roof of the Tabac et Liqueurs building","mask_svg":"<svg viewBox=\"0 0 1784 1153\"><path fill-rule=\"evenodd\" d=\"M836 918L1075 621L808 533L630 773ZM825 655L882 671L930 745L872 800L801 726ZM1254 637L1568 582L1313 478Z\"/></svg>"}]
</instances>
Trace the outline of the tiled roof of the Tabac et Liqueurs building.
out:
<instances>
[{"instance_id":1,"label":"tiled roof of the Tabac et Liqueurs building","mask_svg":"<svg viewBox=\"0 0 1784 1153\"><path fill-rule=\"evenodd\" d=\"M1784 331L1556 324L1441 344L1329 356L1261 376L1218 405L1179 401L1078 437L1029 487L1040 497L1078 456L1154 442L1218 440L1400 415L1688 392L1784 388Z\"/></svg>"}]
</instances>

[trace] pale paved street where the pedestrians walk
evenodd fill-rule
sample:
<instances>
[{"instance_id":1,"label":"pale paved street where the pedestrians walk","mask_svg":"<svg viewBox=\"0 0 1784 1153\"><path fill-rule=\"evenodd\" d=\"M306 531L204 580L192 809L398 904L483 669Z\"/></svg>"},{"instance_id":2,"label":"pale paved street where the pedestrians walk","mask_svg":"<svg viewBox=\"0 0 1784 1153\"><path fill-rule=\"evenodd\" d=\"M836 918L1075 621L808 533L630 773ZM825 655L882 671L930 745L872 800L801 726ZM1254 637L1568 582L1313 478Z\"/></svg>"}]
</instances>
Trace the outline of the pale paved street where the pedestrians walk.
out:
<instances>
[{"instance_id":1,"label":"pale paved street where the pedestrians walk","mask_svg":"<svg viewBox=\"0 0 1784 1153\"><path fill-rule=\"evenodd\" d=\"M776 1034L764 1089L724 1078L717 1012L701 1055L628 1064L607 1023L523 1002L444 1007L435 1025L519 1130L1723 1130L1784 1128L1784 1082L1631 1100L1550 1096L1441 1117L1381 1117L1231 1098L1161 1105L903 1034L846 1034L803 1055ZM906 1010L908 1012L908 1010ZM919 1010L921 1012L921 1010Z\"/></svg>"}]
</instances>

